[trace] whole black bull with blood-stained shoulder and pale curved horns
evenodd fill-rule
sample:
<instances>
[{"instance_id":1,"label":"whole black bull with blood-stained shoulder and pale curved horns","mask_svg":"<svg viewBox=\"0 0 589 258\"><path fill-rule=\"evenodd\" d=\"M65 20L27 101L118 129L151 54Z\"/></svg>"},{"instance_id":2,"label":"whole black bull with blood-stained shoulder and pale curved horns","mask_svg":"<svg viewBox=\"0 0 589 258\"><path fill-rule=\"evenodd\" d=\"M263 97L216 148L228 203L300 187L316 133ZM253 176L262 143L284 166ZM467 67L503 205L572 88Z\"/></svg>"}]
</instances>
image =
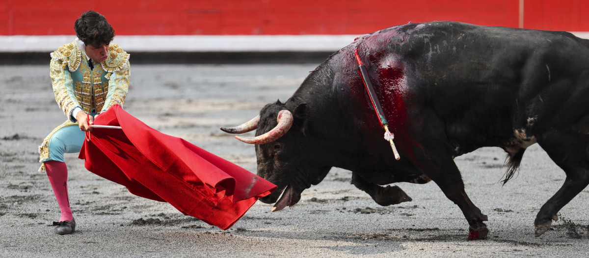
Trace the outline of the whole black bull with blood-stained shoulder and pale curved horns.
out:
<instances>
[{"instance_id":1,"label":"whole black bull with blood-stained shoulder and pale curved horns","mask_svg":"<svg viewBox=\"0 0 589 258\"><path fill-rule=\"evenodd\" d=\"M382 138L354 49L401 160ZM433 180L464 213L469 239L487 237L487 216L466 195L454 157L501 147L509 158L506 182L525 148L538 143L567 176L538 212L540 236L589 183L588 98L587 39L456 22L406 24L363 35L319 65L285 103L222 129L257 128L256 137L237 138L256 144L258 175L278 186L262 201L277 201L275 210L296 204L332 167L352 171L352 183L383 206L411 199L382 185Z\"/></svg>"}]
</instances>

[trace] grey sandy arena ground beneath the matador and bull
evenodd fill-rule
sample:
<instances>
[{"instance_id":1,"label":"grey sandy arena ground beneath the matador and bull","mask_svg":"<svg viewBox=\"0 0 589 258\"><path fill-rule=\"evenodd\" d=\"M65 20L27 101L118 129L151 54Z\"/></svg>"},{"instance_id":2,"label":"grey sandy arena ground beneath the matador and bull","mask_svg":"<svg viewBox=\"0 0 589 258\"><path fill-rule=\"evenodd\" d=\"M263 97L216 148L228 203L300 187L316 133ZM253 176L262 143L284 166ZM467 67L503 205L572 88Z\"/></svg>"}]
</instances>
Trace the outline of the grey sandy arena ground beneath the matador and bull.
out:
<instances>
[{"instance_id":1,"label":"grey sandy arena ground beneath the matador and bull","mask_svg":"<svg viewBox=\"0 0 589 258\"><path fill-rule=\"evenodd\" d=\"M49 60L48 60L49 61ZM133 61L133 59L131 59ZM256 171L252 145L221 126L243 123L264 104L286 100L309 65L132 65L125 110L147 125ZM468 224L434 183L397 184L413 201L380 207L334 168L291 209L258 202L227 231L142 199L67 156L77 228L57 236L59 218L37 147L65 120L48 65L0 66L0 256L2 257L587 257L589 188L534 237L538 209L564 173L538 145L517 178L501 186L499 148L456 158L466 192L487 214L487 240L467 241Z\"/></svg>"}]
</instances>

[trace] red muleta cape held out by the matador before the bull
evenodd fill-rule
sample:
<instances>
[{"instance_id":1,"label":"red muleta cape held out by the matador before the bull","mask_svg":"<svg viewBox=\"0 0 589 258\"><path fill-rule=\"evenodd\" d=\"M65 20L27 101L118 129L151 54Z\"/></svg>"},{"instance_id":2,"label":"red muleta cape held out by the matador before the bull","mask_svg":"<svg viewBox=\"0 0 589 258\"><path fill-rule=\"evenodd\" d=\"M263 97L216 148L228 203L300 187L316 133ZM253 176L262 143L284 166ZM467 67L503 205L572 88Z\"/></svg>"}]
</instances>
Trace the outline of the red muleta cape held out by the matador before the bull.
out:
<instances>
[{"instance_id":1,"label":"red muleta cape held out by the matador before the bull","mask_svg":"<svg viewBox=\"0 0 589 258\"><path fill-rule=\"evenodd\" d=\"M276 186L188 141L148 127L113 105L86 133L79 158L94 174L141 197L227 230Z\"/></svg>"}]
</instances>

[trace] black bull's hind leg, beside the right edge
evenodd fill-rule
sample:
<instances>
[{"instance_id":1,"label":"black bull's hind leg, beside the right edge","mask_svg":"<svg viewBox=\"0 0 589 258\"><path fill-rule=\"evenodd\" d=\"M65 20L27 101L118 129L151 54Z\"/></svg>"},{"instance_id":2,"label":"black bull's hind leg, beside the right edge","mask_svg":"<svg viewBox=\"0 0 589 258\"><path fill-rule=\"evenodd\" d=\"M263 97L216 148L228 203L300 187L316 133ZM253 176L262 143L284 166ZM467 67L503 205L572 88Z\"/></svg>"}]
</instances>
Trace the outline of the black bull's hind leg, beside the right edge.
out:
<instances>
[{"instance_id":1,"label":"black bull's hind leg, beside the right edge","mask_svg":"<svg viewBox=\"0 0 589 258\"><path fill-rule=\"evenodd\" d=\"M552 132L541 135L538 144L567 178L538 212L534 221L537 237L550 229L552 217L589 184L589 135Z\"/></svg>"}]
</instances>

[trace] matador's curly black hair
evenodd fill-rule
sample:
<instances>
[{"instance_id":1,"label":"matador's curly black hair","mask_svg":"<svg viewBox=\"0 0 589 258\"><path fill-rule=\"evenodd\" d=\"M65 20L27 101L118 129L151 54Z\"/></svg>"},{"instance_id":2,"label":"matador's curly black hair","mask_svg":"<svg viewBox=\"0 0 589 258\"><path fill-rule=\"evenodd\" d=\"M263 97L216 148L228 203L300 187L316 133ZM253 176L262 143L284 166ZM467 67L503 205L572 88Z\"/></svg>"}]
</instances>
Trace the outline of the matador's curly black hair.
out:
<instances>
[{"instance_id":1,"label":"matador's curly black hair","mask_svg":"<svg viewBox=\"0 0 589 258\"><path fill-rule=\"evenodd\" d=\"M95 11L84 12L74 24L75 34L85 45L100 48L108 45L114 38L114 29L101 14Z\"/></svg>"}]
</instances>

